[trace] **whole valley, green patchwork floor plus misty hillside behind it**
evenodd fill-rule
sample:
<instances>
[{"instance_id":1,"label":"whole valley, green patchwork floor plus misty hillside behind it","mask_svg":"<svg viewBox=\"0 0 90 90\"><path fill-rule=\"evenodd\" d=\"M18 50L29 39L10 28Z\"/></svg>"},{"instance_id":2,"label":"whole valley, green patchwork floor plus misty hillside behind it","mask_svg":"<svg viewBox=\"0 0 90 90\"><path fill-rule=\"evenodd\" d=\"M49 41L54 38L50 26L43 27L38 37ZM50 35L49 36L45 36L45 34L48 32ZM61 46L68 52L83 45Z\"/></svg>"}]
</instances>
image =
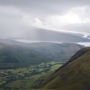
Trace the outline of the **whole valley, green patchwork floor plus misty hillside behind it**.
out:
<instances>
[{"instance_id":1,"label":"whole valley, green patchwork floor plus misty hillside behind it","mask_svg":"<svg viewBox=\"0 0 90 90\"><path fill-rule=\"evenodd\" d=\"M83 46L0 41L0 90L37 89Z\"/></svg>"}]
</instances>

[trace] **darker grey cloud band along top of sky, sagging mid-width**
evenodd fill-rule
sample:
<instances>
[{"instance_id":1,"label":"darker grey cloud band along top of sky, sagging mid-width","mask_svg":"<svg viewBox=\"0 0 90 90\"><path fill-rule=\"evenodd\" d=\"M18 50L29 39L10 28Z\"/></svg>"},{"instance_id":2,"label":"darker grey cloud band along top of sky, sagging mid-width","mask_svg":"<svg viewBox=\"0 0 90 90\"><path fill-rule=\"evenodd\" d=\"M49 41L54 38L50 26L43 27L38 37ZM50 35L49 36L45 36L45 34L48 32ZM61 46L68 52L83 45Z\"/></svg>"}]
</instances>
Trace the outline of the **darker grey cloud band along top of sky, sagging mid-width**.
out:
<instances>
[{"instance_id":1,"label":"darker grey cloud band along top of sky, sagging mid-width","mask_svg":"<svg viewBox=\"0 0 90 90\"><path fill-rule=\"evenodd\" d=\"M55 14L74 6L90 5L90 0L0 0L0 5L17 7L37 14Z\"/></svg>"}]
</instances>

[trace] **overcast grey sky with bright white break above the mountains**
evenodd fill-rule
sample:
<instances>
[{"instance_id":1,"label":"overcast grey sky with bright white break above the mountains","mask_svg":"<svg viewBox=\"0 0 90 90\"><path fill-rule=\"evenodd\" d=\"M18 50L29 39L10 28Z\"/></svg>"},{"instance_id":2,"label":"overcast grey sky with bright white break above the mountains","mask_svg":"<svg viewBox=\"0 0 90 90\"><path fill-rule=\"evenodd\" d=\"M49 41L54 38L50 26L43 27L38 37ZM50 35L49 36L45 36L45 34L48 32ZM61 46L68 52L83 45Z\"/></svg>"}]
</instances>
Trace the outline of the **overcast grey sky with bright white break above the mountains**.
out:
<instances>
[{"instance_id":1,"label":"overcast grey sky with bright white break above the mountains","mask_svg":"<svg viewBox=\"0 0 90 90\"><path fill-rule=\"evenodd\" d=\"M0 0L0 38L34 29L90 34L90 0Z\"/></svg>"}]
</instances>

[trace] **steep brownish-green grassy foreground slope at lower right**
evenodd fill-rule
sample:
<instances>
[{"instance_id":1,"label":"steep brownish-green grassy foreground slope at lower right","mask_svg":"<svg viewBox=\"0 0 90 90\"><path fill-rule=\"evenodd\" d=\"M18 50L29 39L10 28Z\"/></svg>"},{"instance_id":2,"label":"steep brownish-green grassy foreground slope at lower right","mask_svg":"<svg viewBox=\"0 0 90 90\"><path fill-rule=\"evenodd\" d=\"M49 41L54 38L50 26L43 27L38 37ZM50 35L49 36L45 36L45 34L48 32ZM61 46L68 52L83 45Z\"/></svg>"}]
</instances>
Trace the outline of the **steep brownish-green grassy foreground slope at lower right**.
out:
<instances>
[{"instance_id":1,"label":"steep brownish-green grassy foreground slope at lower right","mask_svg":"<svg viewBox=\"0 0 90 90\"><path fill-rule=\"evenodd\" d=\"M42 89L90 90L90 48L78 51L45 80Z\"/></svg>"}]
</instances>

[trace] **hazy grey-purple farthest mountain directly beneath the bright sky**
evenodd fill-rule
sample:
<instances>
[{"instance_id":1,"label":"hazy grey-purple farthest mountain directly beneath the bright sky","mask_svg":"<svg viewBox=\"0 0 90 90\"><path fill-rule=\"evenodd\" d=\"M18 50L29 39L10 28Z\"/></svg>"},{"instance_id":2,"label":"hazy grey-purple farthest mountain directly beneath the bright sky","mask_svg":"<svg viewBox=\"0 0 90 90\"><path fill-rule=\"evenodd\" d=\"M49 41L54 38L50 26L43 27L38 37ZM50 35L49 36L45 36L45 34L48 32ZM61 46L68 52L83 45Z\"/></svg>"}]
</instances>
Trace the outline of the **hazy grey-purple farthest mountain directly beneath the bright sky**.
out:
<instances>
[{"instance_id":1,"label":"hazy grey-purple farthest mountain directly beneath the bright sky","mask_svg":"<svg viewBox=\"0 0 90 90\"><path fill-rule=\"evenodd\" d=\"M52 42L90 42L90 39L81 34L63 33L51 30L36 29L25 32L23 36L15 39L25 39L31 41L52 41Z\"/></svg>"}]
</instances>

